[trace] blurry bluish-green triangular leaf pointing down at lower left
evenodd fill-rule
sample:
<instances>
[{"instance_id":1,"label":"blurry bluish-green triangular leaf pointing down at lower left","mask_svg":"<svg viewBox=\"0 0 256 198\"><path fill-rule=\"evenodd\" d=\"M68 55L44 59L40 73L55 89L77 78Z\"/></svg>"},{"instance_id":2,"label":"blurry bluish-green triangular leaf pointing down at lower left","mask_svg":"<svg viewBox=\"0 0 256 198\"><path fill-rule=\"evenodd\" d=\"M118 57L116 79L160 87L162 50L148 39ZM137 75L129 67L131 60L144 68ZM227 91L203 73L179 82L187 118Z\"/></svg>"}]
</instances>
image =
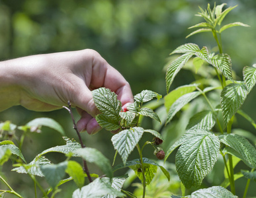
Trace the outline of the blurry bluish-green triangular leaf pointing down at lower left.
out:
<instances>
[{"instance_id":1,"label":"blurry bluish-green triangular leaf pointing down at lower left","mask_svg":"<svg viewBox=\"0 0 256 198\"><path fill-rule=\"evenodd\" d=\"M52 189L55 189L56 185L62 180L65 176L65 169L67 168L67 162L61 162L59 164L47 164L40 166L42 174L46 178L46 182L49 183Z\"/></svg>"}]
</instances>

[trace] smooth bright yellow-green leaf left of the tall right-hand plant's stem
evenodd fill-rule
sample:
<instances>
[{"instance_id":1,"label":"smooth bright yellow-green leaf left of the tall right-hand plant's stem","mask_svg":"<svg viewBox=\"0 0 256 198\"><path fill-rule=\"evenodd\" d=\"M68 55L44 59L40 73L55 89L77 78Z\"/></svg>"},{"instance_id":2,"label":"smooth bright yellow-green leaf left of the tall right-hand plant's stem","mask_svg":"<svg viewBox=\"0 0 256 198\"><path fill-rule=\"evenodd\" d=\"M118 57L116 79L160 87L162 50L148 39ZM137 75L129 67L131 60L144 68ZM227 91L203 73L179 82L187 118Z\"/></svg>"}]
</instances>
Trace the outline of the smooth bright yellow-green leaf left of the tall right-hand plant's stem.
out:
<instances>
[{"instance_id":1,"label":"smooth bright yellow-green leaf left of the tall right-hand plant's stem","mask_svg":"<svg viewBox=\"0 0 256 198\"><path fill-rule=\"evenodd\" d=\"M165 108L167 112L169 111L170 107L172 106L173 102L175 102L178 98L181 96L191 93L194 90L196 90L196 87L199 84L187 84L183 86L179 86L178 88L175 88L175 90L172 90L167 94L164 99L165 99Z\"/></svg>"}]
</instances>

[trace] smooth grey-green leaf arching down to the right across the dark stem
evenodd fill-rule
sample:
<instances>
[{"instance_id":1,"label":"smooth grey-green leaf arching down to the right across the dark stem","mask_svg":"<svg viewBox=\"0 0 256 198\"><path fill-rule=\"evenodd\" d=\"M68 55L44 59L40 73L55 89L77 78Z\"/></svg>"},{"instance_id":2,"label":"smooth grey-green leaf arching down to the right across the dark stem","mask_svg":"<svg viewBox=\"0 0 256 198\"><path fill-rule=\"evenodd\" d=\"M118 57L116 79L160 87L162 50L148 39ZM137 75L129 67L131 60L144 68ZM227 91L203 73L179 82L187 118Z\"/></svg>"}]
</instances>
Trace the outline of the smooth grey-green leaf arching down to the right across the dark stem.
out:
<instances>
[{"instance_id":1,"label":"smooth grey-green leaf arching down to the right across the dark stem","mask_svg":"<svg viewBox=\"0 0 256 198\"><path fill-rule=\"evenodd\" d=\"M81 156L87 162L95 163L109 178L112 178L110 162L108 158L99 152L99 150L93 148L82 148L73 151L73 153Z\"/></svg>"}]
</instances>

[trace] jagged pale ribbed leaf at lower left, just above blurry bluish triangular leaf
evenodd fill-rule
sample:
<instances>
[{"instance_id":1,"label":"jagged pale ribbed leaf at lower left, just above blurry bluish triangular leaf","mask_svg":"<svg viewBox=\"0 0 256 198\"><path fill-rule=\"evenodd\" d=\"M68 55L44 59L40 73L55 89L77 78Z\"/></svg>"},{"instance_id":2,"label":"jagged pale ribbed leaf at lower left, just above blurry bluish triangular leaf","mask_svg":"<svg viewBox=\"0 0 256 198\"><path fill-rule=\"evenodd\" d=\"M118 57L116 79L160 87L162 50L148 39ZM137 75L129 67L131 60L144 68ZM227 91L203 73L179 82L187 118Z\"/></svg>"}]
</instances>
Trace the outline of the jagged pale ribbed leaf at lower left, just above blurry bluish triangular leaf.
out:
<instances>
[{"instance_id":1,"label":"jagged pale ribbed leaf at lower left, just above blurry bluish triangular leaf","mask_svg":"<svg viewBox=\"0 0 256 198\"><path fill-rule=\"evenodd\" d=\"M48 160L44 156L39 156L39 157L34 158L34 160L32 160L32 162L30 162L29 164L24 164L24 167L26 167L26 169L23 166L21 166L19 168L13 168L12 171L16 171L16 172L22 173L22 174L29 173L34 176L44 177L44 174L40 170L40 166L43 166L46 164L50 164L50 160Z\"/></svg>"}]
</instances>

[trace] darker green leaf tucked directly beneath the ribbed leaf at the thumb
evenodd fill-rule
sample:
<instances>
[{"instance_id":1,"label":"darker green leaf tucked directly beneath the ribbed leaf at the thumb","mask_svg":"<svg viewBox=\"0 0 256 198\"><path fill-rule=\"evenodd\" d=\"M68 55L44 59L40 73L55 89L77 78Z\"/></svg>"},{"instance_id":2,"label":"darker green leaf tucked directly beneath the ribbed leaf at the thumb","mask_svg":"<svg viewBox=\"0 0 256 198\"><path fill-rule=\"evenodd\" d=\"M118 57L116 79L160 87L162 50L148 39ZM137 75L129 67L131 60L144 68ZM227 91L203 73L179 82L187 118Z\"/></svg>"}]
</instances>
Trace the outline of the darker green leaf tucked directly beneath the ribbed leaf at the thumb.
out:
<instances>
[{"instance_id":1,"label":"darker green leaf tucked directly beneath the ribbed leaf at the thumb","mask_svg":"<svg viewBox=\"0 0 256 198\"><path fill-rule=\"evenodd\" d=\"M116 119L112 119L112 117L106 116L104 114L99 114L95 117L97 123L107 131L115 131L119 129L119 122Z\"/></svg>"}]
</instances>

